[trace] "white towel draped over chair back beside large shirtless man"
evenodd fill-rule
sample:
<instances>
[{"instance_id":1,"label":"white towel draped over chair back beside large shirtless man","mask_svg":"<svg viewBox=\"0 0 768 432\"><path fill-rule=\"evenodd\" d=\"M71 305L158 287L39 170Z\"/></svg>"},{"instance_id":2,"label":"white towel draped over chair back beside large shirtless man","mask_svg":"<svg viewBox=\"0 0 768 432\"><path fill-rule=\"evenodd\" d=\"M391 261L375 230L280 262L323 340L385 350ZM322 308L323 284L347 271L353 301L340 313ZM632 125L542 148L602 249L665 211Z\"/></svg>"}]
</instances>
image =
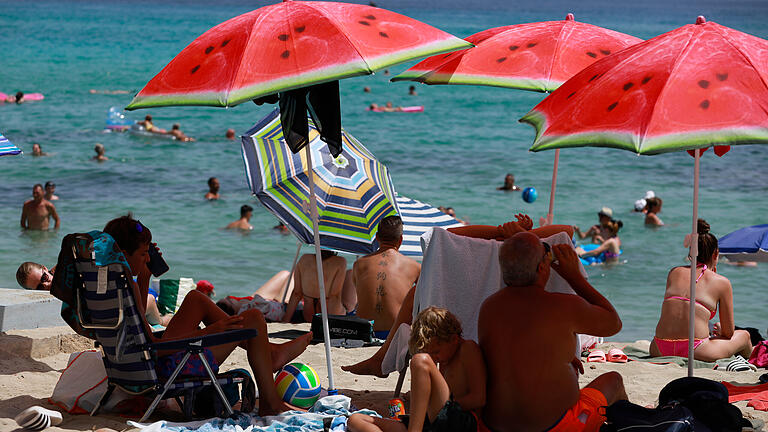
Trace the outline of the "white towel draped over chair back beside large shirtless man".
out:
<instances>
[{"instance_id":1,"label":"white towel draped over chair back beside large shirtless man","mask_svg":"<svg viewBox=\"0 0 768 432\"><path fill-rule=\"evenodd\" d=\"M550 245L572 245L566 233L542 239ZM422 236L424 261L416 285L413 316L429 306L449 309L464 328L464 338L477 341L477 318L485 299L504 287L499 266L501 242L464 237L435 228ZM587 272L579 263L584 277ZM557 272L552 271L544 288L549 292L575 294Z\"/></svg>"}]
</instances>

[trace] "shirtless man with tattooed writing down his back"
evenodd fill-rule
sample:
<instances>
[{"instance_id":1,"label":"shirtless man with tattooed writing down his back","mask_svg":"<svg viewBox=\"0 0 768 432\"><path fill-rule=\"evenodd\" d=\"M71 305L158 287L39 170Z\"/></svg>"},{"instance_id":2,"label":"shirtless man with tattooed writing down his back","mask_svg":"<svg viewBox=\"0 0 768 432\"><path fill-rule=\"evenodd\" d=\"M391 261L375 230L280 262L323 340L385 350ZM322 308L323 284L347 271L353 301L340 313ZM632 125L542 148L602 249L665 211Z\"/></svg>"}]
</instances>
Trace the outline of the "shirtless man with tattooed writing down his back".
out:
<instances>
[{"instance_id":1,"label":"shirtless man with tattooed writing down his back","mask_svg":"<svg viewBox=\"0 0 768 432\"><path fill-rule=\"evenodd\" d=\"M373 320L377 337L386 339L408 290L419 279L421 264L397 251L403 242L399 216L379 222L376 240L379 250L355 261L352 282L357 291L357 316Z\"/></svg>"}]
</instances>

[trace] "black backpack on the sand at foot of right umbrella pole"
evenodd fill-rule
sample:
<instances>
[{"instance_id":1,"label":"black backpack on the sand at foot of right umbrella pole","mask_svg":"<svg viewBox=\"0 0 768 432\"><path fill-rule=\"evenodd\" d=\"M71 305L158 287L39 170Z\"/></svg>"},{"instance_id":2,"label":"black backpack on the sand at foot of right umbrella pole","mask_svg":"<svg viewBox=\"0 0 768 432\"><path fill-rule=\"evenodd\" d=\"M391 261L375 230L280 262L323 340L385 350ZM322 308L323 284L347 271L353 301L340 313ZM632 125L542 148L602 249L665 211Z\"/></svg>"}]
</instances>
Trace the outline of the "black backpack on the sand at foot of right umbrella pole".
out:
<instances>
[{"instance_id":1,"label":"black backpack on the sand at foot of right umbrella pole","mask_svg":"<svg viewBox=\"0 0 768 432\"><path fill-rule=\"evenodd\" d=\"M618 401L606 408L602 432L740 432L751 426L741 411L728 403L724 385L704 378L679 378L659 393L657 408Z\"/></svg>"}]
</instances>

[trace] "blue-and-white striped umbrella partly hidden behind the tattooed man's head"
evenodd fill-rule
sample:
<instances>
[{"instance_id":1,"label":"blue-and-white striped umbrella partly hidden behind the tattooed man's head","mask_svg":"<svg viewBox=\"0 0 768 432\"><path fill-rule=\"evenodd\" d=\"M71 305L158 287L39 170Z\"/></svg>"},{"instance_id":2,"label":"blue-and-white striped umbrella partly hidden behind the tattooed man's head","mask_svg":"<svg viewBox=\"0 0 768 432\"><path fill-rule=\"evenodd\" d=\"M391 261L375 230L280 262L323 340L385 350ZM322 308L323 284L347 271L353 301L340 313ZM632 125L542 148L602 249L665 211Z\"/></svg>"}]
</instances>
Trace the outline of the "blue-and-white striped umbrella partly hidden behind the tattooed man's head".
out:
<instances>
[{"instance_id":1,"label":"blue-and-white striped umbrella partly hidden behind the tattooed man's head","mask_svg":"<svg viewBox=\"0 0 768 432\"><path fill-rule=\"evenodd\" d=\"M421 236L432 228L462 226L454 217L435 207L402 195L397 196L397 207L403 219L403 244L399 250L405 256L422 257Z\"/></svg>"}]
</instances>

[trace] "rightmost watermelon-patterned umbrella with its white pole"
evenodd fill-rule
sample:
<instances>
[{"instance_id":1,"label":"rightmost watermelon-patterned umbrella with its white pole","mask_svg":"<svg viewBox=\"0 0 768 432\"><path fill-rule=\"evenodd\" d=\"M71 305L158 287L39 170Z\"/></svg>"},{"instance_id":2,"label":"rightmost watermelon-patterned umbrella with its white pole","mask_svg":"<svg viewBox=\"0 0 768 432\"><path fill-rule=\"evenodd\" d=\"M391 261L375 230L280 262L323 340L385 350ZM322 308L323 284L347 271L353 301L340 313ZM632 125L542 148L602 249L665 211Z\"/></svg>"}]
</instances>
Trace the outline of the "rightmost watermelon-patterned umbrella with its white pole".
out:
<instances>
[{"instance_id":1,"label":"rightmost watermelon-patterned umbrella with its white pole","mask_svg":"<svg viewBox=\"0 0 768 432\"><path fill-rule=\"evenodd\" d=\"M690 242L694 299L699 158L733 144L768 144L768 41L706 22L689 24L601 59L520 121L536 128L532 151L615 147L695 157ZM693 374L693 326L688 373Z\"/></svg>"}]
</instances>

